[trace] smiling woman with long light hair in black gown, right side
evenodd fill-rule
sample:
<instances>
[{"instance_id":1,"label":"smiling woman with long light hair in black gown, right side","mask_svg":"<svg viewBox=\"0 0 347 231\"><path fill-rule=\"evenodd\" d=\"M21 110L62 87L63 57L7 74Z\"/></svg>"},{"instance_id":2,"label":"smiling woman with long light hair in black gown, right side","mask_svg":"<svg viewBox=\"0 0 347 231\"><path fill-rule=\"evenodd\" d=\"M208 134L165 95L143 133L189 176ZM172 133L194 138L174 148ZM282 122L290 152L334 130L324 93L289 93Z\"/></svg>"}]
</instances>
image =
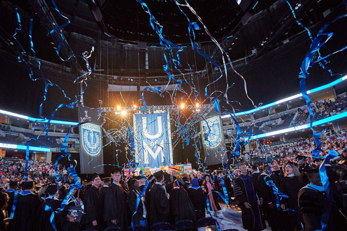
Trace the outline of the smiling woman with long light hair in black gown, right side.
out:
<instances>
[{"instance_id":1,"label":"smiling woman with long light hair in black gown, right side","mask_svg":"<svg viewBox=\"0 0 347 231\"><path fill-rule=\"evenodd\" d=\"M305 185L299 180L300 172L293 163L287 163L285 167L284 177L281 181L280 191L287 195L288 198L281 197L280 205L281 209L299 211L298 207L298 194L302 187ZM288 211L290 221L287 224L287 231L292 231L295 229L300 230L301 225L298 222L299 213Z\"/></svg>"}]
</instances>

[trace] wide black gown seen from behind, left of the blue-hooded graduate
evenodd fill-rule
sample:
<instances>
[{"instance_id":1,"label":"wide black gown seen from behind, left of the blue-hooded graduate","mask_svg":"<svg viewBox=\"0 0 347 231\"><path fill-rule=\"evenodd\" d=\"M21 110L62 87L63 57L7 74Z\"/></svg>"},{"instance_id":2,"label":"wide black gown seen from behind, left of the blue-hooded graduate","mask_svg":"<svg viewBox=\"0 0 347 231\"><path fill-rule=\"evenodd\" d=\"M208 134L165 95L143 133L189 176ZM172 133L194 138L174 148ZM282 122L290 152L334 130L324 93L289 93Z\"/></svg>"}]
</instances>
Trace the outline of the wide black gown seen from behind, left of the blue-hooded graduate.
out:
<instances>
[{"instance_id":1,"label":"wide black gown seen from behind, left of the blue-hooded graduate","mask_svg":"<svg viewBox=\"0 0 347 231\"><path fill-rule=\"evenodd\" d=\"M183 188L174 188L170 194L170 217L173 224L180 220L196 222L196 214L187 191Z\"/></svg>"}]
</instances>

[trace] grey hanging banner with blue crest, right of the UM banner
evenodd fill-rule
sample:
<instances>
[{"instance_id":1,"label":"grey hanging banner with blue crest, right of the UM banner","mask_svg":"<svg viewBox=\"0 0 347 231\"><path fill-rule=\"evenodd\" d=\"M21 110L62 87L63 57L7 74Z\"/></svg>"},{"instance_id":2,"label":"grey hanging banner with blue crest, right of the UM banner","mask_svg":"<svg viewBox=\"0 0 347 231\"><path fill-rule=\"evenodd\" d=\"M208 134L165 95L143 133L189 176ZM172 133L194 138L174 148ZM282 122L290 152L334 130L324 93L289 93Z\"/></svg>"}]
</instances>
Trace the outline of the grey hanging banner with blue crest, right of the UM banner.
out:
<instances>
[{"instance_id":1,"label":"grey hanging banner with blue crest, right of the UM banner","mask_svg":"<svg viewBox=\"0 0 347 231\"><path fill-rule=\"evenodd\" d=\"M201 120L202 142L206 165L221 164L227 161L224 135L219 115L206 116Z\"/></svg>"}]
</instances>

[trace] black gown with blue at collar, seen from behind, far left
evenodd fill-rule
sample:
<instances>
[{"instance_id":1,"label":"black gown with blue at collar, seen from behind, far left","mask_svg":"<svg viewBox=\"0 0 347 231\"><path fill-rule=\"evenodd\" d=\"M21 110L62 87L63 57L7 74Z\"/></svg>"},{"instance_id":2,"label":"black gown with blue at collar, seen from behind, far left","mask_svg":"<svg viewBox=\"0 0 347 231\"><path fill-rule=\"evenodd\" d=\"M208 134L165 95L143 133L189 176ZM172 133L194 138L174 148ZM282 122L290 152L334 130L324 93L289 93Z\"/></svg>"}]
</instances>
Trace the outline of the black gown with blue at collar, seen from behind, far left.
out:
<instances>
[{"instance_id":1,"label":"black gown with blue at collar, seen from behind, far left","mask_svg":"<svg viewBox=\"0 0 347 231\"><path fill-rule=\"evenodd\" d=\"M25 192L28 191L25 190L21 193ZM25 196L21 193L18 193L14 217L10 222L11 231L37 231L40 198L34 193Z\"/></svg>"}]
</instances>

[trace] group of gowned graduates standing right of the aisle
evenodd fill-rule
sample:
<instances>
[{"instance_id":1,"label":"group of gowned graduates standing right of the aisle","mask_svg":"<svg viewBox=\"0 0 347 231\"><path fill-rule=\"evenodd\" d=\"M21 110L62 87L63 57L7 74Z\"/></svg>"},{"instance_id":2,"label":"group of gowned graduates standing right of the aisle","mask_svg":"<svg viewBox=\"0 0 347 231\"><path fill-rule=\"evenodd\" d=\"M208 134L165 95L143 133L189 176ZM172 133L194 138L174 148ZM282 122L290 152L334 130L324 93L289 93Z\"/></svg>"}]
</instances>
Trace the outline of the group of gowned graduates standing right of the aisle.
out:
<instances>
[{"instance_id":1,"label":"group of gowned graduates standing right of the aisle","mask_svg":"<svg viewBox=\"0 0 347 231\"><path fill-rule=\"evenodd\" d=\"M322 217L327 213L325 231L346 231L347 212L338 196L342 191L335 192L329 208L320 165L318 159L311 166L288 161L284 171L265 164L253 165L249 172L246 164L239 164L239 175L233 180L233 193L242 211L243 228L261 231L266 228L267 220L272 231L322 230L325 221ZM347 173L347 168L343 167L342 171Z\"/></svg>"}]
</instances>

